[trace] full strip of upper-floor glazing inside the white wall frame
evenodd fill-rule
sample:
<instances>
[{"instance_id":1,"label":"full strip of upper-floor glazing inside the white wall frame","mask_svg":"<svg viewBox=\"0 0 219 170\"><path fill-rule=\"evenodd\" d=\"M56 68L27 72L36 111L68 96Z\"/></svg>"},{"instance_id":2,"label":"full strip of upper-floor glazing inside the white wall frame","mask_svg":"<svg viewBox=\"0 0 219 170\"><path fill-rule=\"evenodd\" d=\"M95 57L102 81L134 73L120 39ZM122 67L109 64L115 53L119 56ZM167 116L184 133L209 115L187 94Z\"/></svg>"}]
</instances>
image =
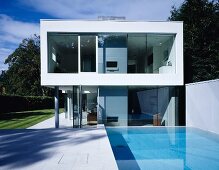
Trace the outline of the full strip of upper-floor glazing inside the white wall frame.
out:
<instances>
[{"instance_id":1,"label":"full strip of upper-floor glazing inside the white wall frame","mask_svg":"<svg viewBox=\"0 0 219 170\"><path fill-rule=\"evenodd\" d=\"M174 74L175 68L174 34L48 33L49 73Z\"/></svg>"}]
</instances>

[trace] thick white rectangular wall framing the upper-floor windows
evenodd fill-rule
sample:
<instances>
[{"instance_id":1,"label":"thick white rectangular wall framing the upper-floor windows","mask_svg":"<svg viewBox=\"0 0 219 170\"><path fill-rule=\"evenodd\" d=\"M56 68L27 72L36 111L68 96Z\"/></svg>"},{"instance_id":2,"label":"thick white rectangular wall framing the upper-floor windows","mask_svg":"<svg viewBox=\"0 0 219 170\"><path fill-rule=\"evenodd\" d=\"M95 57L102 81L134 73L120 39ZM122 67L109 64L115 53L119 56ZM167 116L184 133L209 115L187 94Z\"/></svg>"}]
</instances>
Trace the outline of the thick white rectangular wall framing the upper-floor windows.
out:
<instances>
[{"instance_id":1,"label":"thick white rectangular wall framing the upper-floor windows","mask_svg":"<svg viewBox=\"0 0 219 170\"><path fill-rule=\"evenodd\" d=\"M71 33L159 33L176 34L175 74L98 74L48 73L48 32ZM41 85L44 86L127 86L127 85L183 85L183 23L182 22L129 22L129 21L75 21L41 20ZM97 50L97 52L100 52ZM98 56L98 54L97 54ZM80 61L80 60L79 60ZM97 60L98 65L98 60ZM100 65L100 61L99 61ZM80 66L80 64L79 64ZM97 68L98 70L98 68Z\"/></svg>"}]
</instances>

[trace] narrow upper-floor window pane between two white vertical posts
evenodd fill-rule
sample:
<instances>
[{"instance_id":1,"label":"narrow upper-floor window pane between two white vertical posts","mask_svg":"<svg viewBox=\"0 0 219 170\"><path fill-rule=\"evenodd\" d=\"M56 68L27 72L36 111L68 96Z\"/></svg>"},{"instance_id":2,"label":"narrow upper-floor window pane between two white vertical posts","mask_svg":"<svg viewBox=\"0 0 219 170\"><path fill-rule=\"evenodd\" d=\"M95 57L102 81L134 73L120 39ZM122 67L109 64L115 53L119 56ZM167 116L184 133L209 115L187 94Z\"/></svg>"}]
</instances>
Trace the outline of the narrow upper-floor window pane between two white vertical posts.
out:
<instances>
[{"instance_id":1,"label":"narrow upper-floor window pane between two white vertical posts","mask_svg":"<svg viewBox=\"0 0 219 170\"><path fill-rule=\"evenodd\" d=\"M96 72L96 36L83 35L80 44L81 72Z\"/></svg>"}]
</instances>

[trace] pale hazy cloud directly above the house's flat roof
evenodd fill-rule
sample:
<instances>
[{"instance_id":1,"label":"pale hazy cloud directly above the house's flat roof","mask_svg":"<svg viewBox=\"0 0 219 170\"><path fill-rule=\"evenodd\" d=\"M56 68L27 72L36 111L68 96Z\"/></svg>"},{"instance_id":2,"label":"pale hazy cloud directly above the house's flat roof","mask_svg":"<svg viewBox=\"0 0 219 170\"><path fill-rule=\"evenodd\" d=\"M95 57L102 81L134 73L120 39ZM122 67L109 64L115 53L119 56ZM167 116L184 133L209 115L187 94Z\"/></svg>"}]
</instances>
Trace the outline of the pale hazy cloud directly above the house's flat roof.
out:
<instances>
[{"instance_id":1,"label":"pale hazy cloud directly above the house's flat roof","mask_svg":"<svg viewBox=\"0 0 219 170\"><path fill-rule=\"evenodd\" d=\"M172 5L183 0L20 0L36 11L57 18L97 19L125 16L127 19L167 20Z\"/></svg>"}]
</instances>

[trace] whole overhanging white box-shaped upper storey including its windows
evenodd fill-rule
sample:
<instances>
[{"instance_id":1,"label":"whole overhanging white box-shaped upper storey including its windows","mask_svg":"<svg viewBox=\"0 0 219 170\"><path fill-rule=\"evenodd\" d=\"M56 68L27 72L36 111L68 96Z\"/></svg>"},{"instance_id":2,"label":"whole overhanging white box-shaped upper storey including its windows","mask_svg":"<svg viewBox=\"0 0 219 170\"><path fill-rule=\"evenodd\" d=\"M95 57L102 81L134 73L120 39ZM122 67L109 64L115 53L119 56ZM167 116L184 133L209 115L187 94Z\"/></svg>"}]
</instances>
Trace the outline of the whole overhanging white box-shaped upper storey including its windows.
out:
<instances>
[{"instance_id":1,"label":"whole overhanging white box-shaped upper storey including its windows","mask_svg":"<svg viewBox=\"0 0 219 170\"><path fill-rule=\"evenodd\" d=\"M41 85L184 84L182 22L41 20L40 36ZM103 37L106 45L100 45Z\"/></svg>"}]
</instances>

